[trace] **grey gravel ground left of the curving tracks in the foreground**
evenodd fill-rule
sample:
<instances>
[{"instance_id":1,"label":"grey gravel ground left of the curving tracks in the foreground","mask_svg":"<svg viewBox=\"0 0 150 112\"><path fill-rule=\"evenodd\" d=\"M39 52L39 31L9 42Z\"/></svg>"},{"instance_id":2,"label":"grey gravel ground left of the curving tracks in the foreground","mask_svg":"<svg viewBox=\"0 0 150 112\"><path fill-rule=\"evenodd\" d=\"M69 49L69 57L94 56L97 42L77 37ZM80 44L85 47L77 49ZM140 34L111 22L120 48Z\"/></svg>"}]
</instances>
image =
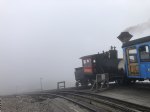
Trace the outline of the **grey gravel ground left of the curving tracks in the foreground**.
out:
<instances>
[{"instance_id":1,"label":"grey gravel ground left of the curving tracks in the foreground","mask_svg":"<svg viewBox=\"0 0 150 112\"><path fill-rule=\"evenodd\" d=\"M37 100L30 96L2 98L2 112L88 112L61 98Z\"/></svg>"}]
</instances>

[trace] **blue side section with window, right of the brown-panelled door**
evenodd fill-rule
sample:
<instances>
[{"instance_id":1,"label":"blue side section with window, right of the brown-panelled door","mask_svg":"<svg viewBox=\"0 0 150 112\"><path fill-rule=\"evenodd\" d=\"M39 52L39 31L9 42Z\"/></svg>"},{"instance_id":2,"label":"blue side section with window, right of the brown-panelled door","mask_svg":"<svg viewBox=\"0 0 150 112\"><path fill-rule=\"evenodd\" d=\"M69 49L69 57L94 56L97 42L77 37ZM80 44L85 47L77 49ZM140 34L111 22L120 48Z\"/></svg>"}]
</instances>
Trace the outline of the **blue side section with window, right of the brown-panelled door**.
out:
<instances>
[{"instance_id":1,"label":"blue side section with window, right of the brown-panelled door","mask_svg":"<svg viewBox=\"0 0 150 112\"><path fill-rule=\"evenodd\" d=\"M139 46L141 78L150 78L150 48L148 45Z\"/></svg>"}]
</instances>

